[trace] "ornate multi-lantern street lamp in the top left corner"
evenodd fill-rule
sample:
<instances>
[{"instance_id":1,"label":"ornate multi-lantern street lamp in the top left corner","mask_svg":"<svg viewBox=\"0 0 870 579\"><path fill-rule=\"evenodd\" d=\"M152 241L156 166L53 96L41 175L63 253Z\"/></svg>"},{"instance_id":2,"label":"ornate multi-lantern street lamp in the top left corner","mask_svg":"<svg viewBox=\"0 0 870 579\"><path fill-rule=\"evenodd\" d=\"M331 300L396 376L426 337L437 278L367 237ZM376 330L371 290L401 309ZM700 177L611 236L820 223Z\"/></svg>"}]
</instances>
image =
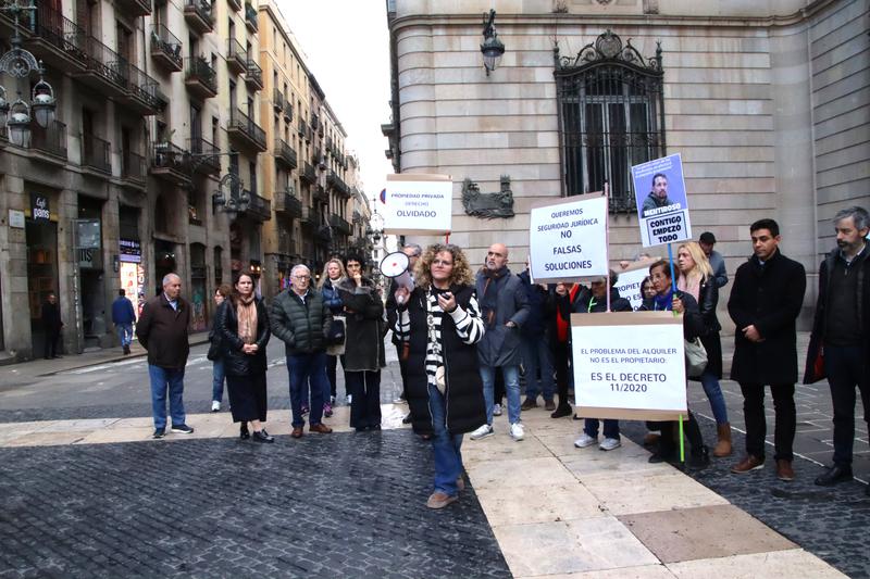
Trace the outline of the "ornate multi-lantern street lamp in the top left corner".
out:
<instances>
[{"instance_id":1,"label":"ornate multi-lantern street lamp in the top left corner","mask_svg":"<svg viewBox=\"0 0 870 579\"><path fill-rule=\"evenodd\" d=\"M18 0L11 0L0 8L0 12L12 14L15 21L12 49L0 56L0 74L8 74L13 78L27 78L34 72L39 75L30 95L30 104L24 102L18 92L18 99L10 105L5 88L0 85L0 128L9 127L10 140L18 147L30 144L30 114L33 113L37 125L47 128L54 121L54 110L58 106L54 89L42 78L46 73L42 61L37 61L33 53L22 48L18 17L35 11L33 0L28 0L27 5L18 4Z\"/></svg>"}]
</instances>

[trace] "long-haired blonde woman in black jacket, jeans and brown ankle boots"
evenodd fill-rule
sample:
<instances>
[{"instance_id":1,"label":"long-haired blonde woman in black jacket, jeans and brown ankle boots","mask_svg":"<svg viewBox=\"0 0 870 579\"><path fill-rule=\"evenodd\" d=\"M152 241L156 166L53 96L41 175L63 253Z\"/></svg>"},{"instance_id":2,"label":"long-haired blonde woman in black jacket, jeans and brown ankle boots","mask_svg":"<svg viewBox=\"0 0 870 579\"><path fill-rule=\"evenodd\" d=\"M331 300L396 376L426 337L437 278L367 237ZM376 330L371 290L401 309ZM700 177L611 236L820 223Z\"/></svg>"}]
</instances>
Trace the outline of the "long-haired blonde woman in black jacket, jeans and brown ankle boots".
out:
<instances>
[{"instance_id":1,"label":"long-haired blonde woman in black jacket, jeans and brown ankle boots","mask_svg":"<svg viewBox=\"0 0 870 579\"><path fill-rule=\"evenodd\" d=\"M722 326L716 317L719 289L707 254L697 242L688 241L678 248L676 265L680 269L676 287L695 298L704 318L704 331L699 338L704 349L707 350L707 367L698 379L716 418L719 441L713 449L713 456L728 456L732 451L731 425L728 421L722 388L719 386L719 380L722 378L722 343L719 339Z\"/></svg>"}]
</instances>

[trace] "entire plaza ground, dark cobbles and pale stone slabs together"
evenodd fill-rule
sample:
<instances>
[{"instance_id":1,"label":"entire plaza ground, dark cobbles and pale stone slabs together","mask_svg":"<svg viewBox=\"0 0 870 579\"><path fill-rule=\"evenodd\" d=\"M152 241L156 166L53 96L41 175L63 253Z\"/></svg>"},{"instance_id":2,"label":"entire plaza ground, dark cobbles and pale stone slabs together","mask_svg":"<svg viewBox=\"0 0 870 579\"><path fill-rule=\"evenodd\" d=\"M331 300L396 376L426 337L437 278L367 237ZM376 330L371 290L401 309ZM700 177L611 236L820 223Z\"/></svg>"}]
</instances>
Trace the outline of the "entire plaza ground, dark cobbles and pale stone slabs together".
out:
<instances>
[{"instance_id":1,"label":"entire plaza ground, dark cobbles and pale stone slabs together","mask_svg":"<svg viewBox=\"0 0 870 579\"><path fill-rule=\"evenodd\" d=\"M3 368L0 577L870 577L863 484L816 487L821 466L810 460L796 460L793 483L772 467L731 475L734 458L686 475L646 462L641 423L623 423L617 451L581 451L579 421L537 408L523 413L523 442L509 439L504 416L497 436L467 438L469 487L432 512L431 451L401 426L406 406L389 403L395 361L384 431L349 431L344 406L327 420L334 435L296 441L286 372L270 348L277 441L256 445L237 440L226 412L207 412L200 350L186 394L197 431L161 441L149 438L141 358ZM79 367L88 361L98 365ZM739 427L737 387L723 386ZM798 389L798 446L806 435L830 449L825 390ZM697 385L689 399L714 440ZM859 439L863 460L866 431Z\"/></svg>"}]
</instances>

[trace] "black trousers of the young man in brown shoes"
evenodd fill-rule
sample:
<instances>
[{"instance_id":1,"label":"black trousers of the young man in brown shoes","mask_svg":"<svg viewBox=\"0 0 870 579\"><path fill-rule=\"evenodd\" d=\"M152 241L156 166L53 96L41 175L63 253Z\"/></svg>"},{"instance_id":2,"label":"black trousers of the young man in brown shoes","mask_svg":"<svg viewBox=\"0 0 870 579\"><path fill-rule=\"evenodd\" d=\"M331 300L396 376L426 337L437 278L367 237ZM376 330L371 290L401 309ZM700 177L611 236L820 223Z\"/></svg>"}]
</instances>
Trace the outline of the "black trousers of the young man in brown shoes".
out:
<instances>
[{"instance_id":1,"label":"black trousers of the young man in brown shoes","mask_svg":"<svg viewBox=\"0 0 870 579\"><path fill-rule=\"evenodd\" d=\"M765 460L765 385L741 382L743 392L743 415L746 419L746 453ZM776 461L792 461L792 444L795 441L797 412L795 411L795 385L770 385L773 397L773 448Z\"/></svg>"}]
</instances>

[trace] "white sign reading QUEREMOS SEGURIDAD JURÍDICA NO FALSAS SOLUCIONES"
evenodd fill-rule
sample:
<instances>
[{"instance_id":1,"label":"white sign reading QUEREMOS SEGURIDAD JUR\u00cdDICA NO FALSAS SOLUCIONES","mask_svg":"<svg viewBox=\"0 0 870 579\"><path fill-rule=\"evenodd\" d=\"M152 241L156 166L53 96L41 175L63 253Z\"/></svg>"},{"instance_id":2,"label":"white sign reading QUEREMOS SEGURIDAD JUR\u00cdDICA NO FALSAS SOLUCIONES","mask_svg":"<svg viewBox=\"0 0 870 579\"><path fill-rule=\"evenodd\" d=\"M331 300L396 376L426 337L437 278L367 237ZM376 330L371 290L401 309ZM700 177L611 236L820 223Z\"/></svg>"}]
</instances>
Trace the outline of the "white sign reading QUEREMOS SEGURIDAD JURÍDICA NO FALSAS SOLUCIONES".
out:
<instances>
[{"instance_id":1,"label":"white sign reading QUEREMOS SEGURIDAD JUR\u00cdDICA NO FALSAS SOLUCIONES","mask_svg":"<svg viewBox=\"0 0 870 579\"><path fill-rule=\"evenodd\" d=\"M592 193L533 207L529 250L536 282L606 276L607 198Z\"/></svg>"}]
</instances>

